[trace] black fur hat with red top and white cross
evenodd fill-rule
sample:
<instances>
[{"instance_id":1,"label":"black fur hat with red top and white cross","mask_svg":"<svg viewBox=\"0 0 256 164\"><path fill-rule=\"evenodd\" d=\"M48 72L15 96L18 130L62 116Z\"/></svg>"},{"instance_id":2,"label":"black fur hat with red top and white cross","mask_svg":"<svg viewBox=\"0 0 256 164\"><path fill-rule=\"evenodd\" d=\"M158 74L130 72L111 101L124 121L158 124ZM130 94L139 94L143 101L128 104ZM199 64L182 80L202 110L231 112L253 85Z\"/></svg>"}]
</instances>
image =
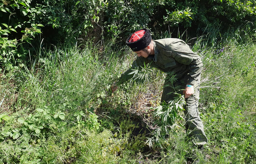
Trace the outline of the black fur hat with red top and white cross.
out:
<instances>
[{"instance_id":1,"label":"black fur hat with red top and white cross","mask_svg":"<svg viewBox=\"0 0 256 164\"><path fill-rule=\"evenodd\" d=\"M136 32L139 32L140 30L145 30L145 34L138 40L136 41L131 41L131 37L136 34ZM147 47L150 42L151 42L151 34L150 34L150 31L149 29L146 29L146 28L143 28L143 29L140 29L136 32L134 32L132 35L130 35L127 40L126 40L126 44L133 50L133 51L140 51L142 49L144 49L145 47Z\"/></svg>"}]
</instances>

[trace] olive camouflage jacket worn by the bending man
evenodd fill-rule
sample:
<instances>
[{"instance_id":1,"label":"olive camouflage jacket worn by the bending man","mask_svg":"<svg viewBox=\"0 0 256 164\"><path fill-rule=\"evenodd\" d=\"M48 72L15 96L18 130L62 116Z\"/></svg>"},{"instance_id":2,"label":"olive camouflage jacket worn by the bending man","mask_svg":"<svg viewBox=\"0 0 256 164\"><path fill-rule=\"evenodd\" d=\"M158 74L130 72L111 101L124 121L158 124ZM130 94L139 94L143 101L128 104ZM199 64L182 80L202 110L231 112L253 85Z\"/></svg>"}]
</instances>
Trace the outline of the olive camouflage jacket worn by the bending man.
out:
<instances>
[{"instance_id":1,"label":"olive camouflage jacket worn by the bending man","mask_svg":"<svg viewBox=\"0 0 256 164\"><path fill-rule=\"evenodd\" d=\"M133 62L132 68L144 66L151 63L151 67L155 67L163 72L174 72L178 80L186 77L185 83L194 85L196 79L202 71L201 57L196 55L190 47L182 40L176 38L166 38L154 40L155 55L149 57L137 57ZM127 74L132 69L127 70ZM121 76L121 79L124 76ZM121 81L126 81L125 80ZM186 82L187 81L187 82Z\"/></svg>"}]
</instances>

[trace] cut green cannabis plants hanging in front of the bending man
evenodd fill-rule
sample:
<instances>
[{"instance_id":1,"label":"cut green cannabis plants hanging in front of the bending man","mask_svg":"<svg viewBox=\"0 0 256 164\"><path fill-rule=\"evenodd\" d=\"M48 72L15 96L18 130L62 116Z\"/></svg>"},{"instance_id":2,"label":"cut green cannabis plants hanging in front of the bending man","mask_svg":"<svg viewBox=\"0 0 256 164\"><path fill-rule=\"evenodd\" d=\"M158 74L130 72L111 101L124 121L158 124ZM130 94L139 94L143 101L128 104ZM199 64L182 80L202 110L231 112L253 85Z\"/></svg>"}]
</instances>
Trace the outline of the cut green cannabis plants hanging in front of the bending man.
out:
<instances>
[{"instance_id":1,"label":"cut green cannabis plants hanging in front of the bending man","mask_svg":"<svg viewBox=\"0 0 256 164\"><path fill-rule=\"evenodd\" d=\"M124 78L130 79L130 82L141 84L144 82L150 81L151 68L149 63L144 66L131 69L131 71L124 75ZM165 138L168 130L175 124L176 120L182 120L180 113L183 111L183 106L185 105L185 97L177 92L181 91L180 86L173 85L176 83L177 78L174 72L167 73L166 79L169 81L170 85L165 85L164 87L171 87L172 92L168 94L174 95L173 100L169 102L162 102L153 112L154 115L154 124L158 127L153 131L153 136L148 138L146 143L150 147L153 146L153 143L157 143L161 147L161 138Z\"/></svg>"}]
</instances>

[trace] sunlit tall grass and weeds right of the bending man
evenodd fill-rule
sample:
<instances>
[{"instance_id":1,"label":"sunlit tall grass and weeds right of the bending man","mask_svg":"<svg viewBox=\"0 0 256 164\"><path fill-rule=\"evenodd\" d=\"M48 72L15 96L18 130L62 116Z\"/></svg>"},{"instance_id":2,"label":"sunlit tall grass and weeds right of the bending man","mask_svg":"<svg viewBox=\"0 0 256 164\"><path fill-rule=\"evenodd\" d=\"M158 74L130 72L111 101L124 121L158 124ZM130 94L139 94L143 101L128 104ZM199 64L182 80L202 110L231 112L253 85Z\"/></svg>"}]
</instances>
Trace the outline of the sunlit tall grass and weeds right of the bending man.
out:
<instances>
[{"instance_id":1,"label":"sunlit tall grass and weeds right of the bending man","mask_svg":"<svg viewBox=\"0 0 256 164\"><path fill-rule=\"evenodd\" d=\"M256 47L250 38L242 41L246 33L240 31L223 34L218 45L201 52L200 103L212 163L255 163Z\"/></svg>"}]
</instances>

